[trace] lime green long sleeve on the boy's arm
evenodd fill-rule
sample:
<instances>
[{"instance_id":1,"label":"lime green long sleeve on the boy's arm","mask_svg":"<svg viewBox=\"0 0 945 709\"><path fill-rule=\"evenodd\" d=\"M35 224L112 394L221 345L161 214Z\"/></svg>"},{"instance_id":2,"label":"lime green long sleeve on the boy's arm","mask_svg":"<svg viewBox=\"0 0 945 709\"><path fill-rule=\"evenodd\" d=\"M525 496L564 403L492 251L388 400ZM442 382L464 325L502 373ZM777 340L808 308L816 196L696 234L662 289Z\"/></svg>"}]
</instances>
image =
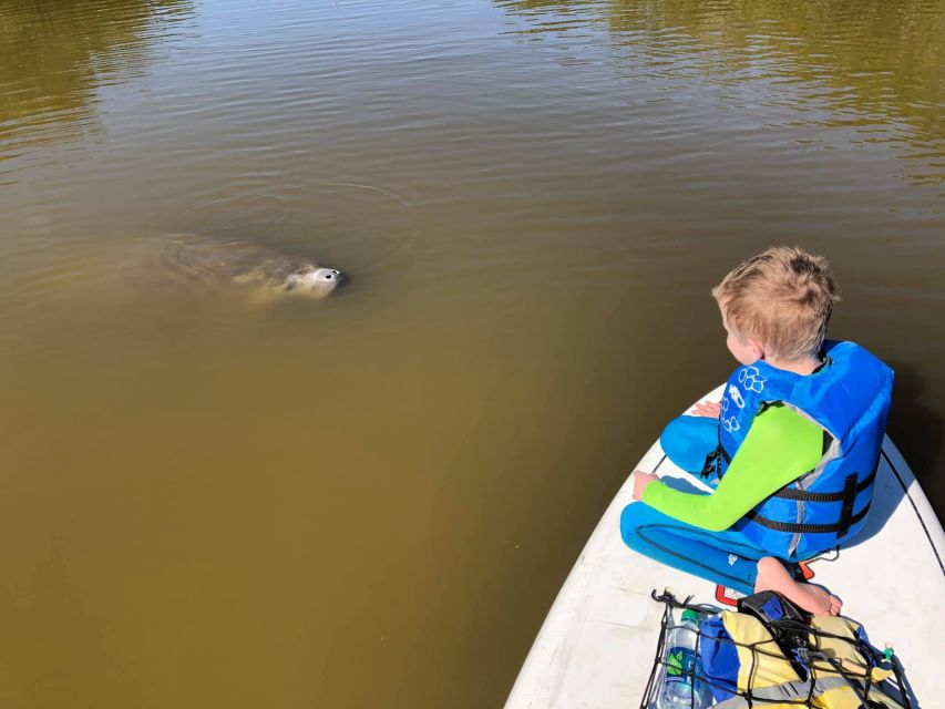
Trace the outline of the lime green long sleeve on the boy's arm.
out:
<instances>
[{"instance_id":1,"label":"lime green long sleeve on the boy's arm","mask_svg":"<svg viewBox=\"0 0 945 709\"><path fill-rule=\"evenodd\" d=\"M752 507L808 471L823 454L823 429L783 404L759 413L718 487L685 493L661 482L643 501L664 514L711 532L728 530Z\"/></svg>"}]
</instances>

